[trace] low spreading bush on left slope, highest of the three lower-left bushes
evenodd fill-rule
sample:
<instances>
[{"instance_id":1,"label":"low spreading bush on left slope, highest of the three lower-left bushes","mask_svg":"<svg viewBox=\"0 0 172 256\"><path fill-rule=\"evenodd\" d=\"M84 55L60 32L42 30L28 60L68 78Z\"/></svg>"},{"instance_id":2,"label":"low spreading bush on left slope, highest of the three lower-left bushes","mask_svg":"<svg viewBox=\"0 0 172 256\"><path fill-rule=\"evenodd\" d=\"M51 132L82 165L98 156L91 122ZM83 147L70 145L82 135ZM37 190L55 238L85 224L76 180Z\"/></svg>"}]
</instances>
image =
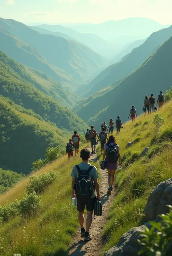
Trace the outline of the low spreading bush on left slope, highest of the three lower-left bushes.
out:
<instances>
[{"instance_id":1,"label":"low spreading bush on left slope, highest of the three lower-left bushes","mask_svg":"<svg viewBox=\"0 0 172 256\"><path fill-rule=\"evenodd\" d=\"M33 192L42 193L56 179L57 174L53 171L41 174L40 176L32 176L29 178L29 184L26 186L26 192L28 194Z\"/></svg>"}]
</instances>

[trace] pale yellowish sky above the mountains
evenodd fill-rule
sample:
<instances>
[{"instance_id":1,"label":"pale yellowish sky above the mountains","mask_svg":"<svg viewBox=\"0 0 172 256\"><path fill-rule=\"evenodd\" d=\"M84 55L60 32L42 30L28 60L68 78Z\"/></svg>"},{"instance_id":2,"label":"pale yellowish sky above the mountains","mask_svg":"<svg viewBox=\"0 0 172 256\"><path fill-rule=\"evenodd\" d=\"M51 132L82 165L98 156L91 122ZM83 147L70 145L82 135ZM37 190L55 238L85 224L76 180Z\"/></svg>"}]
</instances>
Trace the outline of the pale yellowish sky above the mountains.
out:
<instances>
[{"instance_id":1,"label":"pale yellowish sky above the mountains","mask_svg":"<svg viewBox=\"0 0 172 256\"><path fill-rule=\"evenodd\" d=\"M172 0L0 0L0 17L22 23L102 23L147 17L172 24Z\"/></svg>"}]
</instances>

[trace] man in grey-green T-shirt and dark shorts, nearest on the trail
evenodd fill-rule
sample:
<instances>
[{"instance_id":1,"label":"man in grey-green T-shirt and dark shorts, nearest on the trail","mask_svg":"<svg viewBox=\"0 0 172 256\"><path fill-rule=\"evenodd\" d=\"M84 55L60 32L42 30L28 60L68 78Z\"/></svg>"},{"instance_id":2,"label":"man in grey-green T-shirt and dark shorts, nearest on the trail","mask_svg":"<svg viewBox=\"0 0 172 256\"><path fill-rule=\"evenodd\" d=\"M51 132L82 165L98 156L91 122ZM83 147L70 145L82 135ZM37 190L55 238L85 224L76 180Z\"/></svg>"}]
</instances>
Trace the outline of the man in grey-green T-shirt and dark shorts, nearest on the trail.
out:
<instances>
[{"instance_id":1,"label":"man in grey-green T-shirt and dark shorts, nearest on the trail","mask_svg":"<svg viewBox=\"0 0 172 256\"><path fill-rule=\"evenodd\" d=\"M100 201L99 183L97 179L99 178L97 168L89 164L90 151L89 149L82 149L81 155L82 163L73 167L71 172L72 185L71 194L72 198L77 197L77 211L78 211L78 221L81 225L81 237L84 237L84 241L90 241L92 236L89 234L89 229L93 221L93 210L96 199ZM84 172L82 172L84 171ZM93 185L94 181L94 185ZM87 195L88 187L90 189L90 194ZM97 192L97 197L95 195L94 188ZM79 193L80 192L80 193ZM86 229L84 228L84 210L85 206L87 209L87 219L86 219Z\"/></svg>"}]
</instances>

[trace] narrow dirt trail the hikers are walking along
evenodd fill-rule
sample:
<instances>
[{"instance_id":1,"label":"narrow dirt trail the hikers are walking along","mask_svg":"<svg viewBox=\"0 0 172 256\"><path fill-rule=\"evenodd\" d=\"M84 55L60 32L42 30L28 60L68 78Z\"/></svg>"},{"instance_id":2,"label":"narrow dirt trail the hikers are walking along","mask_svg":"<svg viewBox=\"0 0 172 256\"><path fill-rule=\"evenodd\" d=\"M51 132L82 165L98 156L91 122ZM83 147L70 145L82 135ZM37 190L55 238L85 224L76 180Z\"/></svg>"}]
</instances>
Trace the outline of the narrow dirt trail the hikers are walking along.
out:
<instances>
[{"instance_id":1,"label":"narrow dirt trail the hikers are walking along","mask_svg":"<svg viewBox=\"0 0 172 256\"><path fill-rule=\"evenodd\" d=\"M90 149L90 148L89 148ZM91 155L91 160L93 162L98 162L97 154ZM114 200L114 190L111 195L107 195L108 183L107 183L107 170L99 169L101 173L100 184L100 195L103 208L102 216L95 216L93 223L90 228L90 234L93 235L93 240L89 242L84 242L81 238L81 229L78 229L78 234L73 237L73 242L68 249L68 255L70 256L100 256L102 247L102 234L103 228L107 222L107 216L111 202Z\"/></svg>"}]
</instances>

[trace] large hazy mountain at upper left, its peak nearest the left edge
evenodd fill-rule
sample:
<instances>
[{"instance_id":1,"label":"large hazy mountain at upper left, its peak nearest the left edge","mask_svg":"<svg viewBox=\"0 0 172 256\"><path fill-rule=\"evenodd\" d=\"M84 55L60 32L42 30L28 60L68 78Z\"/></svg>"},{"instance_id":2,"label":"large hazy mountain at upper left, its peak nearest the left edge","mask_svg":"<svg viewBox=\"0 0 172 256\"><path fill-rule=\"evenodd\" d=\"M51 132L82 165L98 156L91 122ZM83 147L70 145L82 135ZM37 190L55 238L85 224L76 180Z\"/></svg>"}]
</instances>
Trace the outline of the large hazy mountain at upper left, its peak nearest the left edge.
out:
<instances>
[{"instance_id":1,"label":"large hazy mountain at upper left, its peak nearest the left edge","mask_svg":"<svg viewBox=\"0 0 172 256\"><path fill-rule=\"evenodd\" d=\"M105 59L85 45L50 34L41 34L15 20L0 19L0 25L20 40L33 45L51 64L86 81Z\"/></svg>"}]
</instances>

